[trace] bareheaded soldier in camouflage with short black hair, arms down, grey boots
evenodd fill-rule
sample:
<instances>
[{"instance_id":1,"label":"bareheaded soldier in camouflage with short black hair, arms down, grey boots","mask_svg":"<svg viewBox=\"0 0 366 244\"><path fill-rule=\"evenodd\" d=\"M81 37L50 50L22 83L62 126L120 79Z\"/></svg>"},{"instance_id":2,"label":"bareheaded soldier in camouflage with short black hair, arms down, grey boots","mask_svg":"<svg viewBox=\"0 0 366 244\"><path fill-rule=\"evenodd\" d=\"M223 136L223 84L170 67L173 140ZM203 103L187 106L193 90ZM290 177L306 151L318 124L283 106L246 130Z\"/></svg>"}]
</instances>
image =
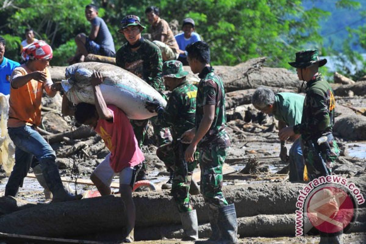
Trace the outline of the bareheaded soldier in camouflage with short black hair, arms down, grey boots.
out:
<instances>
[{"instance_id":1,"label":"bareheaded soldier in camouflage with short black hair, arms down, grey boots","mask_svg":"<svg viewBox=\"0 0 366 244\"><path fill-rule=\"evenodd\" d=\"M185 157L194 161L199 151L201 192L209 204L212 235L206 243L237 243L238 230L234 204L228 204L221 190L223 164L230 146L225 131L225 90L219 76L210 65L210 49L206 42L197 41L186 47L187 61L194 74L199 73L195 127L184 132L182 140L190 142Z\"/></svg>"}]
</instances>

